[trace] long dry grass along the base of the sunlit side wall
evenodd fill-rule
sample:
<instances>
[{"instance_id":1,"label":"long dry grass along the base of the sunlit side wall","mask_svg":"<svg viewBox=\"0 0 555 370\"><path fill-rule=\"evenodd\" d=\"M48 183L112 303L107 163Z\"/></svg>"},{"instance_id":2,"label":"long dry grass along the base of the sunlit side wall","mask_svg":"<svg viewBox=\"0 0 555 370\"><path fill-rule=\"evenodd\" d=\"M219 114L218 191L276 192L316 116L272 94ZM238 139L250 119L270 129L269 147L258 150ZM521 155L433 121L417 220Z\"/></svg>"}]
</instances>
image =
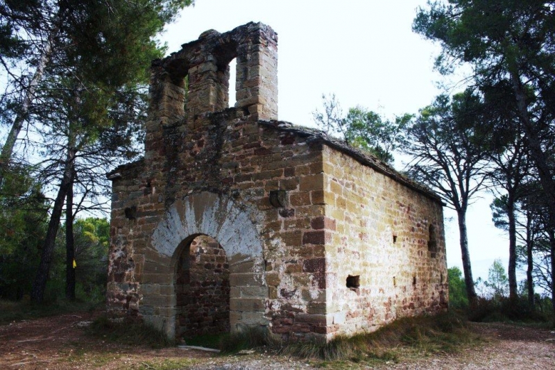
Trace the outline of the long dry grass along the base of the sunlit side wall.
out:
<instances>
[{"instance_id":1,"label":"long dry grass along the base of the sunlit side wall","mask_svg":"<svg viewBox=\"0 0 555 370\"><path fill-rule=\"evenodd\" d=\"M266 330L258 328L221 335L218 342L216 348L223 353L237 353L254 348L259 352L269 351L278 355L332 361L337 364L342 361L396 362L407 353L426 355L458 352L465 346L481 342L481 338L468 329L466 319L447 313L434 317L399 319L373 333L338 336L327 343L316 340L280 342L268 335ZM196 343L207 346L207 342Z\"/></svg>"}]
</instances>

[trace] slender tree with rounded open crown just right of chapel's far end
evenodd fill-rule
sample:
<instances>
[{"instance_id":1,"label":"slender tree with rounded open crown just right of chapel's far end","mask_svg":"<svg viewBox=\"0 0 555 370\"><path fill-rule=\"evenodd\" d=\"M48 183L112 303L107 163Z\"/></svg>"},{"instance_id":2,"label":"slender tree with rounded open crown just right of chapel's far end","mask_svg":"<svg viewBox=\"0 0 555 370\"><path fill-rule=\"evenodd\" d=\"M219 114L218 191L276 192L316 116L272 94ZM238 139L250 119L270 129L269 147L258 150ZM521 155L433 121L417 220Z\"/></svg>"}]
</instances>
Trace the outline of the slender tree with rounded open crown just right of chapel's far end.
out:
<instances>
[{"instance_id":1,"label":"slender tree with rounded open crown just right of chapel's far end","mask_svg":"<svg viewBox=\"0 0 555 370\"><path fill-rule=\"evenodd\" d=\"M482 125L482 102L472 90L438 96L407 128L404 151L411 155L409 175L425 183L456 211L467 296L476 298L466 212L485 180L488 128Z\"/></svg>"}]
</instances>

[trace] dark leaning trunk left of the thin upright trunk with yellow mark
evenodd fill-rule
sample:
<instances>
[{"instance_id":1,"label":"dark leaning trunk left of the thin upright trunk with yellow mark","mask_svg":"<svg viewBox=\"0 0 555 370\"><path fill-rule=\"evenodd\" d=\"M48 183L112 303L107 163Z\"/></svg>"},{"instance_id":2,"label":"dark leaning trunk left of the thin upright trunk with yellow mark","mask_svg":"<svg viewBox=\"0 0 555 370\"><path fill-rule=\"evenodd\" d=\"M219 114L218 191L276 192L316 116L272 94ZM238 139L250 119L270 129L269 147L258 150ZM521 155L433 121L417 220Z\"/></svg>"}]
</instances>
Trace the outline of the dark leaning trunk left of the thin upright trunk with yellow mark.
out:
<instances>
[{"instance_id":1,"label":"dark leaning trunk left of the thin upright trunk with yellow mark","mask_svg":"<svg viewBox=\"0 0 555 370\"><path fill-rule=\"evenodd\" d=\"M62 209L64 206L65 197L71 185L71 176L73 175L72 171L75 154L76 152L74 149L68 149L62 183L60 183L58 195L56 196L56 201L54 201L54 207L52 209L52 215L50 216L48 230L46 231L46 237L44 238L44 243L42 244L40 264L37 270L37 276L35 277L35 281L33 282L33 289L31 290L31 300L36 303L40 303L44 299L44 289L46 289L46 280L48 280L50 266L52 263L52 256L54 252L54 242L56 242L56 234L58 234L58 228L60 227L60 218L62 217Z\"/></svg>"}]
</instances>

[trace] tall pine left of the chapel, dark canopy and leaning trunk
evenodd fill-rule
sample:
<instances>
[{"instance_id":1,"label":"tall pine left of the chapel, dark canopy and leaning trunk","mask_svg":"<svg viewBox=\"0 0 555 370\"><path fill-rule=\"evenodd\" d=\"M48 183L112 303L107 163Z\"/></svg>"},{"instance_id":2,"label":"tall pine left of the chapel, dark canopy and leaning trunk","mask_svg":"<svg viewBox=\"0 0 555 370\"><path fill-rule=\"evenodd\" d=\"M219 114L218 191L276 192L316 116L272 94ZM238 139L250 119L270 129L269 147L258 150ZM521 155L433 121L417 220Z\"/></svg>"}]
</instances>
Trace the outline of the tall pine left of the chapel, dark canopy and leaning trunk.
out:
<instances>
[{"instance_id":1,"label":"tall pine left of the chapel, dark canopy and leaning trunk","mask_svg":"<svg viewBox=\"0 0 555 370\"><path fill-rule=\"evenodd\" d=\"M56 194L33 300L42 301L44 295L64 203L71 221L74 185L80 185L82 195L92 194L91 179L99 177L95 169L113 164L121 149L133 144L129 125L144 112L137 87L148 81L149 62L163 53L154 37L191 3L0 2L0 49L6 51L0 65L8 81L0 119L11 127L0 155L0 183L13 161L16 140L27 128L33 141L22 143L35 151L25 153L42 155L41 176Z\"/></svg>"}]
</instances>

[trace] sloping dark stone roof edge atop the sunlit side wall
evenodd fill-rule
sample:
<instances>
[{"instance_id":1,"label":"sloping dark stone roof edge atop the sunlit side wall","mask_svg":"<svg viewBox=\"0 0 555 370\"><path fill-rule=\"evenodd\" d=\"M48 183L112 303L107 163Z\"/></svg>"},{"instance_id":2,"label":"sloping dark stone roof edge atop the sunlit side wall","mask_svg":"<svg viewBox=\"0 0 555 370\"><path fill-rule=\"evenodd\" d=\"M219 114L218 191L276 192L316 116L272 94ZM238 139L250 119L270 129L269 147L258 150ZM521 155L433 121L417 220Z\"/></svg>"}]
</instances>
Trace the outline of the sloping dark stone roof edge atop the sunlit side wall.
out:
<instances>
[{"instance_id":1,"label":"sloping dark stone roof edge atop the sunlit side wall","mask_svg":"<svg viewBox=\"0 0 555 370\"><path fill-rule=\"evenodd\" d=\"M386 165L384 162L371 155L370 153L364 153L356 148L353 148L352 146L340 142L339 140L333 139L323 131L305 126L296 126L287 121L259 120L258 124L268 128L275 128L278 131L293 133L293 135L308 137L311 142L322 142L323 144L326 144L327 146L330 146L337 151L341 151L341 153L349 155L351 158L361 163L361 165L371 167L380 174L384 174L385 176L393 178L393 180L398 181L399 183L402 183L412 190L428 196L429 198L443 205L443 201L441 200L440 196L438 196L438 194L436 194L433 190L430 190L428 187L425 187L420 183L416 183L416 181L411 180L410 178L407 178L407 176L400 174L398 171L395 171L395 169Z\"/></svg>"}]
</instances>

